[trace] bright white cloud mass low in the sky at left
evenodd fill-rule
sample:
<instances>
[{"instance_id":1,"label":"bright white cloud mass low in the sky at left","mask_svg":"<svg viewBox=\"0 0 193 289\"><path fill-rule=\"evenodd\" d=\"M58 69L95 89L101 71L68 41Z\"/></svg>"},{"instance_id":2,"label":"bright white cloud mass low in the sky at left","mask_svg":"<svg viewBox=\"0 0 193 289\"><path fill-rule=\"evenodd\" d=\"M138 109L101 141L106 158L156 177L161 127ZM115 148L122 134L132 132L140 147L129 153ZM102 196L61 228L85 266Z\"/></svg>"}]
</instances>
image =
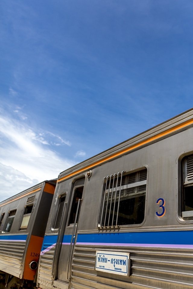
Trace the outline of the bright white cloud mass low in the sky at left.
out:
<instances>
[{"instance_id":1,"label":"bright white cloud mass low in the sky at left","mask_svg":"<svg viewBox=\"0 0 193 289\"><path fill-rule=\"evenodd\" d=\"M34 182L57 178L61 171L75 164L52 151L44 135L14 119L0 117L0 165L3 168L0 182L5 181L0 188L2 198L6 198L10 188L14 195Z\"/></svg>"}]
</instances>

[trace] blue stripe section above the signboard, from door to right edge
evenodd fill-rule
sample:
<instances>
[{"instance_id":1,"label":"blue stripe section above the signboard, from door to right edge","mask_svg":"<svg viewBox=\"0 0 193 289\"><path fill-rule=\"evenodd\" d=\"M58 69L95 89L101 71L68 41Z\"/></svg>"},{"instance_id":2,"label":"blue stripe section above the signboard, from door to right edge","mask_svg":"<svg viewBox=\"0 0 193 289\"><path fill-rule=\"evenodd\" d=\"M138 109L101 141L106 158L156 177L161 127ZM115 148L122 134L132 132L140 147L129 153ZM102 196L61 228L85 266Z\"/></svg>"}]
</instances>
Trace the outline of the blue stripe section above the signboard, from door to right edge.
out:
<instances>
[{"instance_id":1,"label":"blue stripe section above the signboard, from door to right edge","mask_svg":"<svg viewBox=\"0 0 193 289\"><path fill-rule=\"evenodd\" d=\"M77 243L193 244L193 231L78 234Z\"/></svg>"}]
</instances>

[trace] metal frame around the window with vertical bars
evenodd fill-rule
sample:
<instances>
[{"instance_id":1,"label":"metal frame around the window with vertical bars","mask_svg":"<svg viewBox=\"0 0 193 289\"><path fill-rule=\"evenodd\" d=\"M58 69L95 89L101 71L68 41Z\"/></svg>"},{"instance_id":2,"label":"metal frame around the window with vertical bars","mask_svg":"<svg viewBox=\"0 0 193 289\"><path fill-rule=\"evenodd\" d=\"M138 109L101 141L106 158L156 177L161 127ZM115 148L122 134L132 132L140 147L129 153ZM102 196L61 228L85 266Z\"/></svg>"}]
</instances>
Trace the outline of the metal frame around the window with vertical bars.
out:
<instances>
[{"instance_id":1,"label":"metal frame around the window with vertical bars","mask_svg":"<svg viewBox=\"0 0 193 289\"><path fill-rule=\"evenodd\" d=\"M98 230L112 230L112 229L116 229L116 228L119 228L119 229L121 229L121 228L132 228L132 227L141 227L143 224L144 224L144 222L146 221L146 211L147 211L147 194L148 194L148 176L149 176L149 168L148 168L148 166L145 164L145 165L142 165L142 166L138 166L137 168L133 168L133 169L130 169L130 170L127 170L127 169L125 169L125 173L123 174L123 175L129 175L129 174L131 174L131 173L134 173L134 172L139 172L139 171L141 171L141 170L143 170L143 169L147 169L147 180L146 180L146 194L145 194L145 207L144 207L144 220L143 220L143 222L141 222L140 224L130 224L130 225L120 225L120 226L109 226L109 227L105 227L105 226L103 226L103 227L99 227L98 225L99 225L99 219L100 219L100 217L101 217L101 208L102 208L102 202L103 202L103 197L104 197L104 195L103 195L103 183L101 184L101 186L102 186L102 191L101 191L101 194L100 194L100 202L99 202L99 207L98 207L98 214L97 214L97 220L96 220L96 227L97 227L97 229ZM122 172L123 171L123 169L120 169L119 170L119 172ZM117 172L116 172L117 173ZM105 176L106 177L106 176ZM103 182L104 182L104 180L103 180ZM137 183L137 182L136 182Z\"/></svg>"}]
</instances>

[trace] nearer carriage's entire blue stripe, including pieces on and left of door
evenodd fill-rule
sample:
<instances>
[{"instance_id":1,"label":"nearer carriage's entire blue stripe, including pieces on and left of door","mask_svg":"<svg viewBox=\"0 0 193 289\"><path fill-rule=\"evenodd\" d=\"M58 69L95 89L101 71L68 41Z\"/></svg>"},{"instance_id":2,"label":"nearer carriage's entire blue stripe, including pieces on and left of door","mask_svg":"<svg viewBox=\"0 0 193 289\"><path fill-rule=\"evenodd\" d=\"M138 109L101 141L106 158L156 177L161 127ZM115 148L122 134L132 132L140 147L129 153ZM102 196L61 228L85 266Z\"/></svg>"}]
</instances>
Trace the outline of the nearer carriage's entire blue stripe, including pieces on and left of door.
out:
<instances>
[{"instance_id":1,"label":"nearer carriage's entire blue stripe, including pieces on and left of door","mask_svg":"<svg viewBox=\"0 0 193 289\"><path fill-rule=\"evenodd\" d=\"M44 237L42 250L52 246L57 241L57 235L48 235ZM70 244L71 235L64 235L62 243ZM155 246L174 245L193 248L193 231L159 231L159 232L127 232L127 233L95 233L78 234L77 244L93 245L115 245L115 246L143 246L152 244ZM168 246L167 246L168 245Z\"/></svg>"}]
</instances>

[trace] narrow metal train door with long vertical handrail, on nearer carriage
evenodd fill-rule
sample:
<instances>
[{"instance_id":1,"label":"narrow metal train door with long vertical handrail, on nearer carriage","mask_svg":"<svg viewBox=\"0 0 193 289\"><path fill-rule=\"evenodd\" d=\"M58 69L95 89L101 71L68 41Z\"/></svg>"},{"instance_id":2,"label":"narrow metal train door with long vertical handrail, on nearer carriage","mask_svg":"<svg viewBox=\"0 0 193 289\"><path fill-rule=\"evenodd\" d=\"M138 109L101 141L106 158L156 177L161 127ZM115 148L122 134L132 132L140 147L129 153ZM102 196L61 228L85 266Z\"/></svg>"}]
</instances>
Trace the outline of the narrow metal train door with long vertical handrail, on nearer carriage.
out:
<instances>
[{"instance_id":1,"label":"narrow metal train door with long vertical handrail, on nearer carriage","mask_svg":"<svg viewBox=\"0 0 193 289\"><path fill-rule=\"evenodd\" d=\"M71 199L68 200L70 203L68 210L65 212L66 221L63 221L62 226L64 227L61 238L61 246L58 251L55 264L55 281L54 286L61 289L68 288L69 279L71 274L71 259L74 249L74 242L77 237L77 228L79 221L79 212L81 209L82 194L84 189L85 178L79 179L74 182Z\"/></svg>"}]
</instances>

